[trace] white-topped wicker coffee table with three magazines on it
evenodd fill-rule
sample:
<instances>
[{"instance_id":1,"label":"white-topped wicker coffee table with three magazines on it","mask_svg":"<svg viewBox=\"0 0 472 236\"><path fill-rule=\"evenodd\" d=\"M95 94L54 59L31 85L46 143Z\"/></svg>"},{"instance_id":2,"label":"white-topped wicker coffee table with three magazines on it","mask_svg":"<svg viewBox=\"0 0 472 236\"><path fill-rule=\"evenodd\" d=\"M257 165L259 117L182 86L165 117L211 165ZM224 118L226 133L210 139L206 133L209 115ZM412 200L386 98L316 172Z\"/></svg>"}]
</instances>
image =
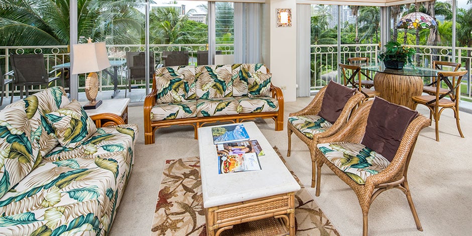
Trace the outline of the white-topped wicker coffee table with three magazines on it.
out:
<instances>
[{"instance_id":1,"label":"white-topped wicker coffee table with three magazines on it","mask_svg":"<svg viewBox=\"0 0 472 236\"><path fill-rule=\"evenodd\" d=\"M262 170L218 174L211 127L198 129L207 234L219 235L236 224L275 217L282 219L290 235L295 235L294 195L300 185L256 124L243 124L250 139L257 140L265 153L259 157Z\"/></svg>"}]
</instances>

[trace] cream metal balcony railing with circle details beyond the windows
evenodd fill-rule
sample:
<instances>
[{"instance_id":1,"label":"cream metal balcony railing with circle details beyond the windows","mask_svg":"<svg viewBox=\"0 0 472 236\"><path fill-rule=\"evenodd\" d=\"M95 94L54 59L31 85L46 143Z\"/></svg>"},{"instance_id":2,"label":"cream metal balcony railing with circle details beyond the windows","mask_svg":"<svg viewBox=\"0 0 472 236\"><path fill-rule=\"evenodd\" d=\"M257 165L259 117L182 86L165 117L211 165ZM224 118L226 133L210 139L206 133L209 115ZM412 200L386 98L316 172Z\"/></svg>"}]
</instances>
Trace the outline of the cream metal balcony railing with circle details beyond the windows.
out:
<instances>
[{"instance_id":1,"label":"cream metal balcony railing with circle details beyond the windows","mask_svg":"<svg viewBox=\"0 0 472 236\"><path fill-rule=\"evenodd\" d=\"M417 46L408 45L417 49L417 56L414 58L416 66L430 67L431 61L451 61L452 48L439 46ZM150 45L150 51L155 58L155 64L162 63L162 53L164 51L188 51L189 64L196 65L197 51L207 49L206 44L189 44L189 45ZM218 44L216 50L222 51L222 54L233 54L233 45ZM145 51L145 45L108 45L108 56L110 60L125 59L127 51ZM346 63L349 57L365 56L371 59L371 62L378 62L378 54L380 47L378 44L343 44L340 46L339 54L341 63ZM11 53L43 53L47 59L48 71L53 66L69 62L69 52L67 46L22 46L22 47L0 47L0 69L2 74L11 70L8 55ZM462 79L461 98L472 101L472 48L456 47L455 55L457 61L462 64L461 69L469 71ZM311 45L311 89L317 90L327 84L331 79L339 81L337 71L338 48L336 44L332 45ZM101 73L100 90L111 90L113 87L111 78L106 73ZM54 85L60 85L56 80ZM79 91L84 91L85 86L84 75L79 76ZM427 82L427 81L425 81ZM144 87L145 82L137 82L137 86ZM67 86L67 85L66 85ZM126 68L123 66L119 69L118 86L125 88L127 86ZM38 86L29 88L30 91L38 91ZM15 91L17 92L17 91ZM8 94L11 95L11 94Z\"/></svg>"}]
</instances>

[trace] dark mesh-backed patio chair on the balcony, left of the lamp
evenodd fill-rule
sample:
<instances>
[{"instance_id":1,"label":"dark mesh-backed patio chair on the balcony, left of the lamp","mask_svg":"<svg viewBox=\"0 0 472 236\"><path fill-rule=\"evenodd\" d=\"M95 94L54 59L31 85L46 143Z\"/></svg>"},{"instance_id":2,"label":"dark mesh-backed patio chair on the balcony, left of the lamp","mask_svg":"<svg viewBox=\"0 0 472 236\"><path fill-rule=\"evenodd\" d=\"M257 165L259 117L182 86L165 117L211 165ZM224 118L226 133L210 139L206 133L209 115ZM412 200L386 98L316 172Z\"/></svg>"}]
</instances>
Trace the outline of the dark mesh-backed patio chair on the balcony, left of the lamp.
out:
<instances>
[{"instance_id":1,"label":"dark mesh-backed patio chair on the balcony, left of the lamp","mask_svg":"<svg viewBox=\"0 0 472 236\"><path fill-rule=\"evenodd\" d=\"M13 68L13 84L12 89L20 87L20 98L23 98L23 87L26 89L26 96L29 96L28 88L33 85L46 85L49 87L49 83L59 79L60 76L56 76L55 72L58 69L54 69L47 72L46 63L42 53L40 54L11 54L10 63ZM49 77L49 75L53 75ZM13 102L13 96L12 96Z\"/></svg>"}]
</instances>

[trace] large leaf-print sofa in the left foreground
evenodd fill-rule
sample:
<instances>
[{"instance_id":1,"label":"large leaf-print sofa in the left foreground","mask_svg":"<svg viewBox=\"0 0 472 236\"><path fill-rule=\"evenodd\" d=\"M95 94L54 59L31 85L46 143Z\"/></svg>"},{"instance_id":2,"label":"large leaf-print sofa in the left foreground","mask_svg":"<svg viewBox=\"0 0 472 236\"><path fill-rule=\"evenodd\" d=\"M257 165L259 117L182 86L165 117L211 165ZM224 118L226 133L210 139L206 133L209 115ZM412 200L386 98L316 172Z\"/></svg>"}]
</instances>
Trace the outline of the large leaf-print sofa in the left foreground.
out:
<instances>
[{"instance_id":1,"label":"large leaf-print sofa in the left foreground","mask_svg":"<svg viewBox=\"0 0 472 236\"><path fill-rule=\"evenodd\" d=\"M107 234L138 127L97 128L97 119L62 87L0 111L0 235Z\"/></svg>"}]
</instances>

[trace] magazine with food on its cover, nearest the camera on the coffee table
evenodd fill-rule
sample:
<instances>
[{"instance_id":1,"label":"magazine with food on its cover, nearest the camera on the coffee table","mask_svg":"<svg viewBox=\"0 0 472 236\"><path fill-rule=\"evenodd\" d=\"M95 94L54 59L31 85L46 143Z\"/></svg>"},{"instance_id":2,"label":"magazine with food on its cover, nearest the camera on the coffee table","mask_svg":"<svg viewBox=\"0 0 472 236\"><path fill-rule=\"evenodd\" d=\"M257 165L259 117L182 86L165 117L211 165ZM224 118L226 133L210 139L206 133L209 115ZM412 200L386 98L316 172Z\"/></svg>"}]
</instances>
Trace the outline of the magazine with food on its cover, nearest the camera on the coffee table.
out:
<instances>
[{"instance_id":1,"label":"magazine with food on its cover, nearest the camera on the coffee table","mask_svg":"<svg viewBox=\"0 0 472 236\"><path fill-rule=\"evenodd\" d=\"M262 170L256 153L218 155L218 173L227 174L241 171Z\"/></svg>"}]
</instances>

